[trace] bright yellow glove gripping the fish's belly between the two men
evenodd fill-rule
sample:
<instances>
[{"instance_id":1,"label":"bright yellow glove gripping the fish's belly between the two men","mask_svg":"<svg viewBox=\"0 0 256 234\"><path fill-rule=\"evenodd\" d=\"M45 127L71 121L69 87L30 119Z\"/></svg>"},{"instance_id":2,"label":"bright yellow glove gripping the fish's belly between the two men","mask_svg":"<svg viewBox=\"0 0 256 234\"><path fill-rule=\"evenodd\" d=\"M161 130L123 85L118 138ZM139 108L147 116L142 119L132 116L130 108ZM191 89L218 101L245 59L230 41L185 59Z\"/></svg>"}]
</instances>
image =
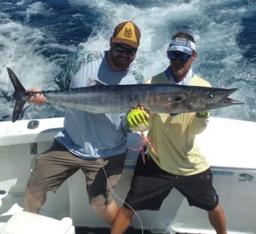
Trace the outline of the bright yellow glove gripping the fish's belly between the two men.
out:
<instances>
[{"instance_id":1,"label":"bright yellow glove gripping the fish's belly between the two men","mask_svg":"<svg viewBox=\"0 0 256 234\"><path fill-rule=\"evenodd\" d=\"M143 127L149 126L149 114L146 111L143 111L141 109L134 109L128 113L127 122L130 126L130 129L133 131L139 131L141 130L141 125L144 125Z\"/></svg>"}]
</instances>

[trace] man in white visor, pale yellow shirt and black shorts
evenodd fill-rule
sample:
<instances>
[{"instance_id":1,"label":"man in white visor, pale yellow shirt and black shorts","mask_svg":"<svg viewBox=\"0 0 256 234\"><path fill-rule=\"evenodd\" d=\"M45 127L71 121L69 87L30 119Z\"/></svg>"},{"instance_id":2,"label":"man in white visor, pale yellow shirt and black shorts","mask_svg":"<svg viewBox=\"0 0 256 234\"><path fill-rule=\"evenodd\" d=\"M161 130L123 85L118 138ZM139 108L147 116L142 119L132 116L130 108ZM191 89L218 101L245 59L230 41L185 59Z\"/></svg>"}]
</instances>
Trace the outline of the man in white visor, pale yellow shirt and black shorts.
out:
<instances>
[{"instance_id":1,"label":"man in white visor, pale yellow shirt and black shorts","mask_svg":"<svg viewBox=\"0 0 256 234\"><path fill-rule=\"evenodd\" d=\"M197 56L194 37L177 33L168 46L167 56L170 66L147 83L211 86L191 69ZM160 210L162 201L174 187L187 198L190 206L208 212L217 234L227 233L225 214L213 187L210 166L194 142L196 134L206 128L208 115L208 111L151 115L147 136L154 150L149 151L150 157L145 163L139 156L131 189L117 212L111 234L124 233L136 210Z\"/></svg>"}]
</instances>

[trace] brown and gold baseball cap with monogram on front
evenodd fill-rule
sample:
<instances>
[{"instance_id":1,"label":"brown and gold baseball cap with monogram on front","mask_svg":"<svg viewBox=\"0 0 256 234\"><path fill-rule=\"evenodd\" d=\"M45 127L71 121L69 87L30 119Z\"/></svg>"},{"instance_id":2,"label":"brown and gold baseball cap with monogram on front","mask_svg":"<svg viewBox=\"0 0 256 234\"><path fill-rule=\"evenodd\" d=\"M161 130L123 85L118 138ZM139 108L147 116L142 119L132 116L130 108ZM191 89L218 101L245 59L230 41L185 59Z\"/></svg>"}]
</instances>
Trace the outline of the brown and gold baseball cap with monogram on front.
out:
<instances>
[{"instance_id":1,"label":"brown and gold baseball cap with monogram on front","mask_svg":"<svg viewBox=\"0 0 256 234\"><path fill-rule=\"evenodd\" d=\"M124 43L134 48L138 48L141 39L141 31L138 26L131 21L118 24L115 27L113 36L110 38L112 43Z\"/></svg>"}]
</instances>

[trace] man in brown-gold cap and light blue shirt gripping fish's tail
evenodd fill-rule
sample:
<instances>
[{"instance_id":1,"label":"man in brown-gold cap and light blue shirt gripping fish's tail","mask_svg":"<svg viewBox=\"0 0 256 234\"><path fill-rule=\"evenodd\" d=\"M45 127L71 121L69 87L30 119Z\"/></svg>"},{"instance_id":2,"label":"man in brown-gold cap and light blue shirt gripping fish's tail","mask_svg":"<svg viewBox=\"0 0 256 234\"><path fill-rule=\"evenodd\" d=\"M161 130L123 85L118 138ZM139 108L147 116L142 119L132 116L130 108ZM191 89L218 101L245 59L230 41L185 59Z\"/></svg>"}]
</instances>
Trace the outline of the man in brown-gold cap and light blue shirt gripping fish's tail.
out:
<instances>
[{"instance_id":1,"label":"man in brown-gold cap and light blue shirt gripping fish's tail","mask_svg":"<svg viewBox=\"0 0 256 234\"><path fill-rule=\"evenodd\" d=\"M143 76L131 64L140 37L139 28L133 22L118 24L110 38L110 49L79 54L75 66L65 71L68 77L62 77L65 85L76 88L98 83L143 83ZM71 65L68 64L67 68ZM29 92L37 91L37 88L29 89ZM45 103L45 96L36 94L29 102L40 106ZM37 157L26 188L26 211L38 213L45 203L46 193L56 192L62 182L81 169L86 176L92 208L111 228L117 213L111 187L122 174L129 131L125 113L94 114L68 109L64 129L55 136L52 147Z\"/></svg>"}]
</instances>

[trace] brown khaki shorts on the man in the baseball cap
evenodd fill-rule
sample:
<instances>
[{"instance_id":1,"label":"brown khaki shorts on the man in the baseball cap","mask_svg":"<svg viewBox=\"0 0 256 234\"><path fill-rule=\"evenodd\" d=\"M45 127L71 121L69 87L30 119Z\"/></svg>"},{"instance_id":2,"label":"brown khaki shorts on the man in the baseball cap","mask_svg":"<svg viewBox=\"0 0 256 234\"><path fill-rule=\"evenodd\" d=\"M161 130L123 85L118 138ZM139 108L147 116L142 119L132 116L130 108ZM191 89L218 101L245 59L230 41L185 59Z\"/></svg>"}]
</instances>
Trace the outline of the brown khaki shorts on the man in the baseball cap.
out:
<instances>
[{"instance_id":1,"label":"brown khaki shorts on the man in the baseball cap","mask_svg":"<svg viewBox=\"0 0 256 234\"><path fill-rule=\"evenodd\" d=\"M111 188L120 180L126 153L95 160L81 159L54 140L52 147L37 156L28 186L56 192L69 176L81 169L86 176L89 202L107 206L113 200Z\"/></svg>"}]
</instances>

